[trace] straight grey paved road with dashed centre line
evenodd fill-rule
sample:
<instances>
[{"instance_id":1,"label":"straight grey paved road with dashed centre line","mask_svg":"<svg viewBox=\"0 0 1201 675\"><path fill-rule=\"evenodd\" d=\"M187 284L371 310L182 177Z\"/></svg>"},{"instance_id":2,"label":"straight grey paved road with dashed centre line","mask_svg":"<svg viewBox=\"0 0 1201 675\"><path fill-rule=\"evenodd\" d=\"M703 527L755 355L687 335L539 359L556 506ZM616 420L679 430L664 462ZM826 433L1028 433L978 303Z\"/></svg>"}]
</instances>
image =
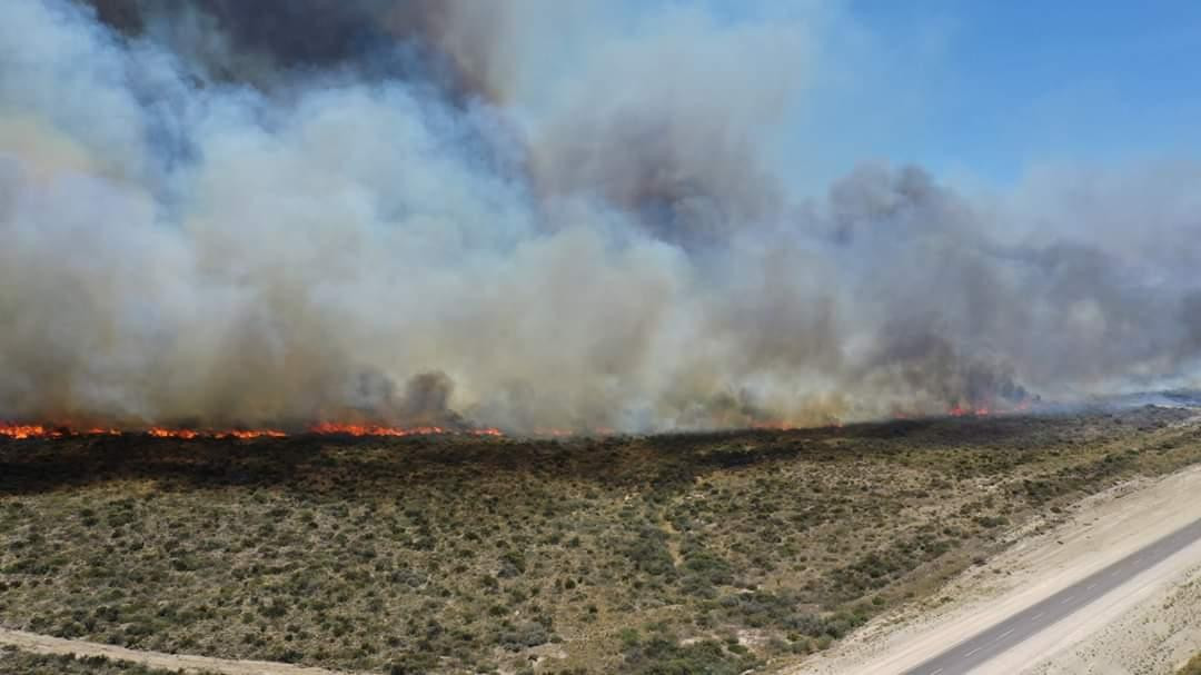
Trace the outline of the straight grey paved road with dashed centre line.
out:
<instances>
[{"instance_id":1,"label":"straight grey paved road with dashed centre line","mask_svg":"<svg viewBox=\"0 0 1201 675\"><path fill-rule=\"evenodd\" d=\"M1141 572L1201 539L1201 520L1143 546L1045 601L955 645L903 675L962 675L1000 652L1070 616Z\"/></svg>"}]
</instances>

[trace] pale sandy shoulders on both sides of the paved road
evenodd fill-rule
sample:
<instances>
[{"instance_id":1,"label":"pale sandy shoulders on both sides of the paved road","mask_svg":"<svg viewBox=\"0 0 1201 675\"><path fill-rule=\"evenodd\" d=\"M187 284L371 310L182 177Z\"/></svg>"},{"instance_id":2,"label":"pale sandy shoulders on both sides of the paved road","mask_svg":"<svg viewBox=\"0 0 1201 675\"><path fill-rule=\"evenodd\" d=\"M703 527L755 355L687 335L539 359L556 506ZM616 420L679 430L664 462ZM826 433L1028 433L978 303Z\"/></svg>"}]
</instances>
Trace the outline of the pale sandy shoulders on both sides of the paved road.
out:
<instances>
[{"instance_id":1,"label":"pale sandy shoulders on both sides of the paved road","mask_svg":"<svg viewBox=\"0 0 1201 675\"><path fill-rule=\"evenodd\" d=\"M902 673L1197 519L1201 466L1119 485L1080 502L1060 522L1011 532L1015 543L1005 552L966 572L933 599L882 616L787 673ZM1194 545L974 674L1170 673L1177 653L1201 640L1201 602L1191 602L1201 593L1193 583L1199 566L1201 545ZM1158 608L1172 598L1169 616ZM1164 650L1170 652L1160 656Z\"/></svg>"}]
</instances>

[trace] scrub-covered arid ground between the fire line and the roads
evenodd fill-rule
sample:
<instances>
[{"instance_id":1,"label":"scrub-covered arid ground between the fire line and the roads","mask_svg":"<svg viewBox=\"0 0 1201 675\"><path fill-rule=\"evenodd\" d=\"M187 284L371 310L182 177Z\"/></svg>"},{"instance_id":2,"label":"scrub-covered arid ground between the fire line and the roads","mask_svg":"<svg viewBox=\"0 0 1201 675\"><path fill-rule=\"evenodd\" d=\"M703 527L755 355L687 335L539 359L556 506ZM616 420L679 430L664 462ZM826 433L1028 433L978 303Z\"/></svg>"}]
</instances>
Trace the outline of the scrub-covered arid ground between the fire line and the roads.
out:
<instances>
[{"instance_id":1,"label":"scrub-covered arid ground between the fire line and the roads","mask_svg":"<svg viewBox=\"0 0 1201 675\"><path fill-rule=\"evenodd\" d=\"M6 441L0 628L347 671L778 671L1201 461L1191 414Z\"/></svg>"}]
</instances>

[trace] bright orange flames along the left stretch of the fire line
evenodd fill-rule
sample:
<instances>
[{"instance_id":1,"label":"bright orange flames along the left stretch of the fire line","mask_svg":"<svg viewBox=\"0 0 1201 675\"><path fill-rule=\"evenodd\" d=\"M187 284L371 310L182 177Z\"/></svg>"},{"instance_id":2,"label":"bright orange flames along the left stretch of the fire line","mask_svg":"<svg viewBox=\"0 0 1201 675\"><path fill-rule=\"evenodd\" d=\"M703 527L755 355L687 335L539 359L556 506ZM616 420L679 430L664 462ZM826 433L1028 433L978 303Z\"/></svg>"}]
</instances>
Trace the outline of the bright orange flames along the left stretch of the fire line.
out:
<instances>
[{"instance_id":1,"label":"bright orange flames along the left stretch of the fire line","mask_svg":"<svg viewBox=\"0 0 1201 675\"><path fill-rule=\"evenodd\" d=\"M470 436L504 436L500 429L454 430L442 426L384 426L374 424L319 423L306 430L318 436L362 436L362 437L399 437L399 436L436 436L461 434ZM22 441L25 438L73 438L89 436L123 436L145 434L154 438L174 438L178 441L195 440L240 440L286 438L291 434L279 429L184 429L171 426L151 426L142 430L121 430L107 428L72 428L67 425L50 426L44 424L16 424L0 422L0 438Z\"/></svg>"}]
</instances>

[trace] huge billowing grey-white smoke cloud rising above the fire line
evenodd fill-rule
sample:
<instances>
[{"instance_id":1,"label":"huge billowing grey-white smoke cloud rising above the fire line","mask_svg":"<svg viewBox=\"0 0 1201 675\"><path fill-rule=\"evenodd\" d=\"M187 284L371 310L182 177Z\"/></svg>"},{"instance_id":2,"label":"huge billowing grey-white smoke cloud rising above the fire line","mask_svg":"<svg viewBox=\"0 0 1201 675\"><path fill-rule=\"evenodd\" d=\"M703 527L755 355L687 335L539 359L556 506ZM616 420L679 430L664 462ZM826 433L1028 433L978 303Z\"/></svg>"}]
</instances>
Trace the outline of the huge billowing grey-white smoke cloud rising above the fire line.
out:
<instances>
[{"instance_id":1,"label":"huge billowing grey-white smoke cloud rising above the fire line","mask_svg":"<svg viewBox=\"0 0 1201 675\"><path fill-rule=\"evenodd\" d=\"M0 418L821 424L1179 380L1201 166L766 161L823 6L16 0Z\"/></svg>"}]
</instances>

